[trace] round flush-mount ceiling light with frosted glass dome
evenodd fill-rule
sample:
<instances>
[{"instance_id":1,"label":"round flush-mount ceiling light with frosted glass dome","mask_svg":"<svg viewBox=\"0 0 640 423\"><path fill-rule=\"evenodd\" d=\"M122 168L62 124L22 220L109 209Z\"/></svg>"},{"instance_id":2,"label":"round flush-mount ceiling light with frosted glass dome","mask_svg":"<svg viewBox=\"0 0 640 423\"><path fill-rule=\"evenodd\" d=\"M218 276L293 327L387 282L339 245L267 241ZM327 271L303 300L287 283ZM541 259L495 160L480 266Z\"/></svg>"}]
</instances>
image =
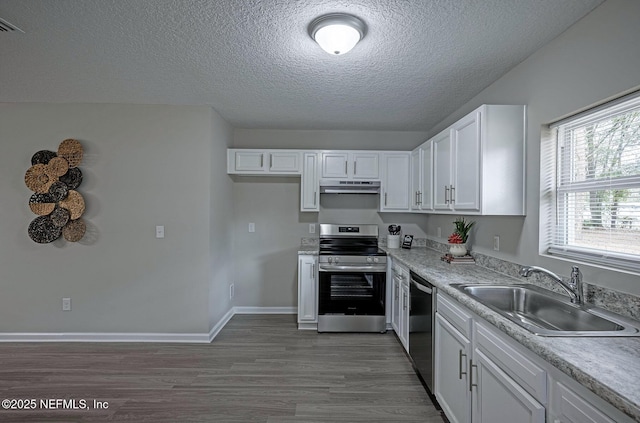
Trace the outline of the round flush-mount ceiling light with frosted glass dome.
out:
<instances>
[{"instance_id":1,"label":"round flush-mount ceiling light with frosted glass dome","mask_svg":"<svg viewBox=\"0 0 640 423\"><path fill-rule=\"evenodd\" d=\"M315 18L309 24L309 35L324 51L345 54L362 38L367 27L362 20L346 13L330 13Z\"/></svg>"}]
</instances>

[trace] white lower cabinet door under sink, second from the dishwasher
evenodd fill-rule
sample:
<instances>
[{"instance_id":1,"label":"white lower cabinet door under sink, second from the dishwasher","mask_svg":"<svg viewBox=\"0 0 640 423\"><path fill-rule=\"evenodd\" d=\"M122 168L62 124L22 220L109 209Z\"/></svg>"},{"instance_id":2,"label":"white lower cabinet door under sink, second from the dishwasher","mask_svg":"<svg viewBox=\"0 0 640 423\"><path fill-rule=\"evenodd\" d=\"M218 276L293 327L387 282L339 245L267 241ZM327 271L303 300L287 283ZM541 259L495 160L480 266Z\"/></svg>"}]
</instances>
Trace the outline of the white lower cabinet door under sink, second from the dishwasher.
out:
<instances>
[{"instance_id":1,"label":"white lower cabinet door under sink, second from the dishwasher","mask_svg":"<svg viewBox=\"0 0 640 423\"><path fill-rule=\"evenodd\" d=\"M544 423L545 408L478 349L474 352L473 423Z\"/></svg>"}]
</instances>

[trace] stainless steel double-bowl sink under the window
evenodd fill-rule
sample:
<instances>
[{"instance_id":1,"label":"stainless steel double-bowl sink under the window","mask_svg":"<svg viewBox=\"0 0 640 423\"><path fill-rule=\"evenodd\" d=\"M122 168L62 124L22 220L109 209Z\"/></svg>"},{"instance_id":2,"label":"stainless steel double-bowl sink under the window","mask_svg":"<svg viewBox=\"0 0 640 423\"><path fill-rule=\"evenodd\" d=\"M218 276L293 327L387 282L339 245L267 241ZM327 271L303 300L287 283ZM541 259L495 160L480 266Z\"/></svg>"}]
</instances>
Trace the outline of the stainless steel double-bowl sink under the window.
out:
<instances>
[{"instance_id":1,"label":"stainless steel double-bowl sink under the window","mask_svg":"<svg viewBox=\"0 0 640 423\"><path fill-rule=\"evenodd\" d=\"M452 284L514 323L542 336L640 336L630 319L535 285Z\"/></svg>"}]
</instances>

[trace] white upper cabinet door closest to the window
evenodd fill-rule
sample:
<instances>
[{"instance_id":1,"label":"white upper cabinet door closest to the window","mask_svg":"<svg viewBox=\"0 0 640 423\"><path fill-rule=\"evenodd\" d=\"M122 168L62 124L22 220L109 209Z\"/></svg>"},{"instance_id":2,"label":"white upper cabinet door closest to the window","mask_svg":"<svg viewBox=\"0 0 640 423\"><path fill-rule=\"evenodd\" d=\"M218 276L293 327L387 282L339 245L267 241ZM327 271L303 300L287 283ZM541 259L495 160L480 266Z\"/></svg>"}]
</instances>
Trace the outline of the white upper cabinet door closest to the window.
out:
<instances>
[{"instance_id":1,"label":"white upper cabinet door closest to the window","mask_svg":"<svg viewBox=\"0 0 640 423\"><path fill-rule=\"evenodd\" d=\"M480 211L480 112L458 121L451 130L454 210Z\"/></svg>"}]
</instances>

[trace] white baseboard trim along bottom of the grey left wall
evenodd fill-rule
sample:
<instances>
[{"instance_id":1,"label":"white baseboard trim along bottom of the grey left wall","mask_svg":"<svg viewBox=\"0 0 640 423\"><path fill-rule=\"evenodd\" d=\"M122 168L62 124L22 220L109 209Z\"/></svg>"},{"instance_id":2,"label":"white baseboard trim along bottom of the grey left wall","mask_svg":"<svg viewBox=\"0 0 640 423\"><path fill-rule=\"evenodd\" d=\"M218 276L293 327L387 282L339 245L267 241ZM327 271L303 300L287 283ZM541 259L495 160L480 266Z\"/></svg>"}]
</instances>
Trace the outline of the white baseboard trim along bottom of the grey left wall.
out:
<instances>
[{"instance_id":1,"label":"white baseboard trim along bottom of the grey left wall","mask_svg":"<svg viewBox=\"0 0 640 423\"><path fill-rule=\"evenodd\" d=\"M159 342L208 344L236 314L296 314L297 307L232 307L209 333L4 332L0 342Z\"/></svg>"}]
</instances>

